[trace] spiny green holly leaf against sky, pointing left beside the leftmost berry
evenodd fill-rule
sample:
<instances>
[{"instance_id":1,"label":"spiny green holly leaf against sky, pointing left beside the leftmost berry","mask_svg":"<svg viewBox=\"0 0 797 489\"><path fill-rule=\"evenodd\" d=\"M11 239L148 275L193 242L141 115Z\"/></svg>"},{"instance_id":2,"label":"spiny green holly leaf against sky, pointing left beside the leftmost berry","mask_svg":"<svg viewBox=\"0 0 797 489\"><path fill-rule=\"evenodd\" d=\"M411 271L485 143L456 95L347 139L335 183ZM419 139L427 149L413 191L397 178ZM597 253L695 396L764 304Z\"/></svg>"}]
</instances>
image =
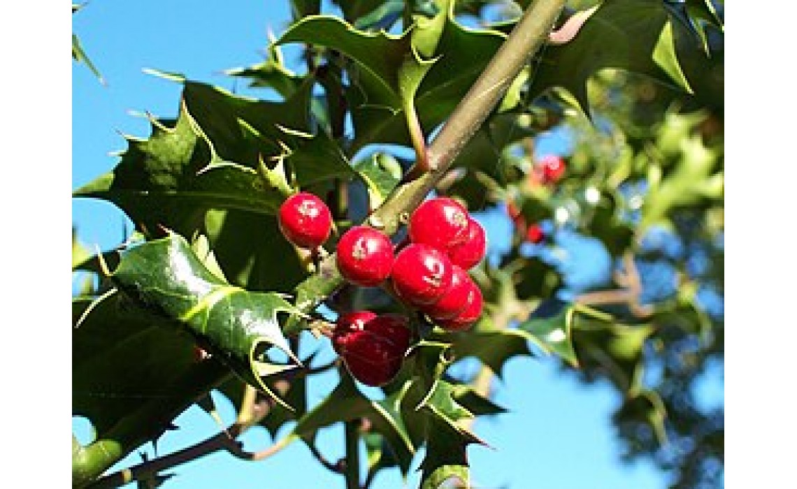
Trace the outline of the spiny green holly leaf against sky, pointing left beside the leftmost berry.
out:
<instances>
[{"instance_id":1,"label":"spiny green holly leaf against sky, pointing left beside the leftmost berry","mask_svg":"<svg viewBox=\"0 0 797 489\"><path fill-rule=\"evenodd\" d=\"M152 119L149 139L128 139L111 172L74 192L119 205L139 229L159 225L190 234L209 207L276 213L285 199L256 170L218 157L185 100L174 127Z\"/></svg>"}]
</instances>

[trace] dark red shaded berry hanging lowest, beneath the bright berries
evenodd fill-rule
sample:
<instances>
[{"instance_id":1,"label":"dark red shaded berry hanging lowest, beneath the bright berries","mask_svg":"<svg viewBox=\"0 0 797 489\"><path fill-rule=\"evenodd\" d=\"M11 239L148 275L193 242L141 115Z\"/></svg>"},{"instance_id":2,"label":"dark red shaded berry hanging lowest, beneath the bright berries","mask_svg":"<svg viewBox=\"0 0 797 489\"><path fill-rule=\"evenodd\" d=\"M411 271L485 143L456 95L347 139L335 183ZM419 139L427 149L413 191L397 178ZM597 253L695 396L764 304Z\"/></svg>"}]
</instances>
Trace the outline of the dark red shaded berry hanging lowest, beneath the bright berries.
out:
<instances>
[{"instance_id":1,"label":"dark red shaded berry hanging lowest, beneath the bright berries","mask_svg":"<svg viewBox=\"0 0 797 489\"><path fill-rule=\"evenodd\" d=\"M410 346L409 321L397 314L355 311L339 319L333 345L354 378L384 385L398 374Z\"/></svg>"}]
</instances>

